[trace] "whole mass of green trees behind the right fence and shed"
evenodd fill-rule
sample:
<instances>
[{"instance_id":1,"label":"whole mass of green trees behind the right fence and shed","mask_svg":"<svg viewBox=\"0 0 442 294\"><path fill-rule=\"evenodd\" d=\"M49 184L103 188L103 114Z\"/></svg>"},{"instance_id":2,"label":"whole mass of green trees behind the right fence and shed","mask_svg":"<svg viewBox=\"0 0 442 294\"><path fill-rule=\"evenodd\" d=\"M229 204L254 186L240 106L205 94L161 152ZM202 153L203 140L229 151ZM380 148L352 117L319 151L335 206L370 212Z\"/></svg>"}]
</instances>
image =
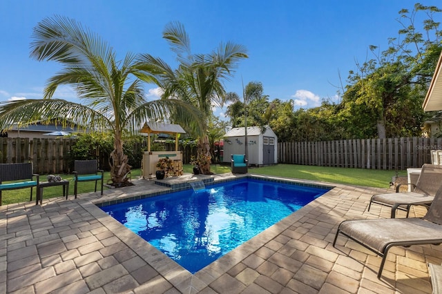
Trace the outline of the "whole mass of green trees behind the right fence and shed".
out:
<instances>
[{"instance_id":1,"label":"whole mass of green trees behind the right fence and shed","mask_svg":"<svg viewBox=\"0 0 442 294\"><path fill-rule=\"evenodd\" d=\"M291 101L265 99L251 103L249 113L265 117L280 141L420 136L423 122L434 115L424 113L422 104L442 50L435 21L440 12L420 3L399 11L398 36L388 39L385 50L369 46L372 58L349 70L339 103L324 99L319 107L294 111ZM227 113L233 126L242 125L240 104Z\"/></svg>"}]
</instances>

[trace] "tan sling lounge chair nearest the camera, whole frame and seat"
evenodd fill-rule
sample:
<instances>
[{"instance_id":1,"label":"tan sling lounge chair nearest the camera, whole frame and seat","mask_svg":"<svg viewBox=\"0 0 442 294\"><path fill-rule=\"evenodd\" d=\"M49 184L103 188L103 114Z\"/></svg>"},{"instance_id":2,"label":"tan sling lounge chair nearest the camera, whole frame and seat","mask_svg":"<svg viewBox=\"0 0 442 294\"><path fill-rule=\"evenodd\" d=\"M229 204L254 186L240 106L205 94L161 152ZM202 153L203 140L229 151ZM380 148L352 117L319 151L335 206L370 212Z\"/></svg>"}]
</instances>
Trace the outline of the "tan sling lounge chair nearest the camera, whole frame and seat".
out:
<instances>
[{"instance_id":1,"label":"tan sling lounge chair nearest the camera, whole frame and seat","mask_svg":"<svg viewBox=\"0 0 442 294\"><path fill-rule=\"evenodd\" d=\"M411 246L442 243L442 186L437 190L430 208L423 218L357 219L345 220L338 226L333 246L339 233L382 257L378 279L393 246Z\"/></svg>"}]
</instances>

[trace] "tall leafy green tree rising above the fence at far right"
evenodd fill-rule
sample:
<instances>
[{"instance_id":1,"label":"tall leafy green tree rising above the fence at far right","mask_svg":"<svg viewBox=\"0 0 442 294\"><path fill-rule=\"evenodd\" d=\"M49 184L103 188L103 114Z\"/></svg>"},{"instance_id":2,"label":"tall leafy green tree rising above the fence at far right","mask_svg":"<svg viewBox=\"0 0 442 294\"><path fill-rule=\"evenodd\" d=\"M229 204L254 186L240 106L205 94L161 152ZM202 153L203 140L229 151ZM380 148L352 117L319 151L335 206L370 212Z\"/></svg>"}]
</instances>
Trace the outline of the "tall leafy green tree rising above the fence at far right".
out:
<instances>
[{"instance_id":1,"label":"tall leafy green tree rising above the fence at far right","mask_svg":"<svg viewBox=\"0 0 442 294\"><path fill-rule=\"evenodd\" d=\"M349 72L343 117L350 128L363 125L365 132L360 135L369 137L419 135L425 117L421 105L442 50L440 23L434 21L439 12L435 6L420 3L412 11L401 10L398 38L390 38L390 46L380 53L377 46L370 46L374 58ZM423 31L416 23L421 14L427 17ZM373 127L375 134L367 132ZM362 129L355 130L360 133Z\"/></svg>"}]
</instances>

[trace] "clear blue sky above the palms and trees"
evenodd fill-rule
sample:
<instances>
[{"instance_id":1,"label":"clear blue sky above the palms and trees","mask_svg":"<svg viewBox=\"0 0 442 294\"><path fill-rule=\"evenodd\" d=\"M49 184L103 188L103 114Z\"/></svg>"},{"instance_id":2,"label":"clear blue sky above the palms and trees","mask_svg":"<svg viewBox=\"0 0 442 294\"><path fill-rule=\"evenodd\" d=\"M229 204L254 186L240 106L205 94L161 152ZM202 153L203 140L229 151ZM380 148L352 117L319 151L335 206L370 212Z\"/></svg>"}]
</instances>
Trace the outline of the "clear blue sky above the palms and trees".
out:
<instances>
[{"instance_id":1,"label":"clear blue sky above the palms and trees","mask_svg":"<svg viewBox=\"0 0 442 294\"><path fill-rule=\"evenodd\" d=\"M60 69L53 61L29 57L32 29L45 17L70 17L107 41L119 58L126 52L150 53L175 67L175 55L162 39L170 21L180 21L194 53L208 53L220 42L244 45L249 59L240 62L228 92L242 93L242 81L260 81L269 99L294 99L296 108L339 101L343 84L369 45L387 48L387 39L401 28L398 11L412 10L410 0L77 0L0 3L0 101L14 97L39 99L46 81ZM440 0L420 1L442 8ZM436 21L441 21L441 16ZM339 77L340 75L340 77ZM148 99L154 85L146 84ZM61 87L55 98L76 101ZM215 113L222 116L224 110Z\"/></svg>"}]
</instances>

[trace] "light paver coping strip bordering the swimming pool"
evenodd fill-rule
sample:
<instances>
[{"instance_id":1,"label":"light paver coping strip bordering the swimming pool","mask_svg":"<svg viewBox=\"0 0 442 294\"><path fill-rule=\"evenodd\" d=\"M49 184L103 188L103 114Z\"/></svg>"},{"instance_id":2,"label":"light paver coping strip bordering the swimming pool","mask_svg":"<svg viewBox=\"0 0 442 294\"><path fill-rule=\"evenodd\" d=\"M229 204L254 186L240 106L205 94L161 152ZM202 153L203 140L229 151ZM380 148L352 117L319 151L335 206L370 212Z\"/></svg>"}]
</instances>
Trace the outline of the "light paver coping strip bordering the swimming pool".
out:
<instances>
[{"instance_id":1,"label":"light paver coping strip bordering the swimming pool","mask_svg":"<svg viewBox=\"0 0 442 294\"><path fill-rule=\"evenodd\" d=\"M313 186L315 188L329 188L321 197L332 192L338 184L315 182L300 179L290 179L285 177L273 177L265 175L253 175L244 174L234 177L224 177L214 181L213 184L220 184L222 182L231 182L236 179L241 179L243 177L251 177L258 179L271 179L273 181L287 182L292 184L299 184L300 186ZM164 188L164 187L162 187ZM166 193L171 193L171 189L164 189L161 191L155 191L153 193L144 193L148 197L154 197L157 195L162 195ZM142 197L143 193L131 193L124 194L115 199L115 203L128 202L133 200L133 198ZM240 246L234 248L229 253L223 255L219 259L216 259L211 264L205 266L200 271L195 274L190 273L186 268L177 264L173 259L162 253L160 250L155 248L153 245L148 243L146 240L142 239L139 235L133 233L131 230L126 228L123 224L108 215L104 210L100 208L100 204L108 203L104 199L91 199L84 202L79 202L79 204L88 211L93 217L97 219L103 226L108 228L109 231L113 232L124 244L131 248L137 255L139 255L144 261L149 264L155 271L160 273L167 281L169 281L175 288L179 289L183 293L193 293L194 291L202 291L215 281L221 275L227 273L231 268L242 262L242 260L249 257L249 255L256 252L262 246L265 246L268 242L274 239L276 236L280 235L283 231L302 219L307 213L316 207L316 202L320 197L314 199L309 204L303 206L294 213L291 213L287 217L281 219L276 224L273 224L264 231L258 233L258 235L247 240ZM112 201L111 201L112 202ZM104 206L104 205L101 205Z\"/></svg>"}]
</instances>

